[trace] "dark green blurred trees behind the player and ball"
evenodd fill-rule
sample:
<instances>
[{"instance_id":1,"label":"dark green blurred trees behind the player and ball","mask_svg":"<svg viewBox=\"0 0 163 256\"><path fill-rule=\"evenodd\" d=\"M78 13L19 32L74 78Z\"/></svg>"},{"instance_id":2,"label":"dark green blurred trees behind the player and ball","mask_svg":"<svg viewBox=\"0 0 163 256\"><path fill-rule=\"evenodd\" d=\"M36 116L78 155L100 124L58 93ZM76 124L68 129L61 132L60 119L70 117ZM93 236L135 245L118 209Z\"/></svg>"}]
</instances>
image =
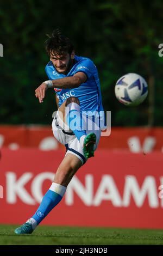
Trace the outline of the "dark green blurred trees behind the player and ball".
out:
<instances>
[{"instance_id":1,"label":"dark green blurred trees behind the player and ball","mask_svg":"<svg viewBox=\"0 0 163 256\"><path fill-rule=\"evenodd\" d=\"M162 126L162 21L161 0L1 0L1 124L51 124L55 93L47 90L40 104L34 90L47 80L46 34L60 28L78 56L95 62L112 126ZM123 106L115 98L115 83L127 72L140 74L149 86L138 107Z\"/></svg>"}]
</instances>

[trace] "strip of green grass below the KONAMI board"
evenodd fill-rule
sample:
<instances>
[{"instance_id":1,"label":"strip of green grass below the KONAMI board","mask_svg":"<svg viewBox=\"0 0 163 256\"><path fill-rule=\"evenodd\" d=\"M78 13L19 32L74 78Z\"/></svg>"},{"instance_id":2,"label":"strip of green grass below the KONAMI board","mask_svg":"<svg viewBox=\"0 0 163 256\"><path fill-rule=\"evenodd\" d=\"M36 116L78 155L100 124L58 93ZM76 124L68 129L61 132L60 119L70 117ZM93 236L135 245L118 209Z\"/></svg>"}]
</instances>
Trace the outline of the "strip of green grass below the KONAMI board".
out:
<instances>
[{"instance_id":1,"label":"strip of green grass below the KONAMI board","mask_svg":"<svg viewBox=\"0 0 163 256\"><path fill-rule=\"evenodd\" d=\"M0 225L0 245L163 245L163 230L45 227L15 235L16 225Z\"/></svg>"}]
</instances>

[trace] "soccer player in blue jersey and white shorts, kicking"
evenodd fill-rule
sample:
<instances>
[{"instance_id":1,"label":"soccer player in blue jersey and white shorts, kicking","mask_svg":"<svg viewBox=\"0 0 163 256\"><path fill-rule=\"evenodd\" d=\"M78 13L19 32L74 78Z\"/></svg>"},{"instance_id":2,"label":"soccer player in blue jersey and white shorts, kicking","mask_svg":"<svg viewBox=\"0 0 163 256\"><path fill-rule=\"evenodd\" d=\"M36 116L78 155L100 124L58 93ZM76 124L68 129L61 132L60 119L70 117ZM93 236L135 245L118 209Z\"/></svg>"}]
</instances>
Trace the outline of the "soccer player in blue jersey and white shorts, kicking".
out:
<instances>
[{"instance_id":1,"label":"soccer player in blue jersey and white shorts, kicking","mask_svg":"<svg viewBox=\"0 0 163 256\"><path fill-rule=\"evenodd\" d=\"M16 234L31 234L61 201L73 175L94 155L101 136L101 115L97 113L103 113L103 106L96 66L89 58L76 56L72 42L58 29L46 40L46 51L49 80L41 83L35 96L42 103L48 88L55 91L58 111L52 128L67 151L39 208L15 229Z\"/></svg>"}]
</instances>

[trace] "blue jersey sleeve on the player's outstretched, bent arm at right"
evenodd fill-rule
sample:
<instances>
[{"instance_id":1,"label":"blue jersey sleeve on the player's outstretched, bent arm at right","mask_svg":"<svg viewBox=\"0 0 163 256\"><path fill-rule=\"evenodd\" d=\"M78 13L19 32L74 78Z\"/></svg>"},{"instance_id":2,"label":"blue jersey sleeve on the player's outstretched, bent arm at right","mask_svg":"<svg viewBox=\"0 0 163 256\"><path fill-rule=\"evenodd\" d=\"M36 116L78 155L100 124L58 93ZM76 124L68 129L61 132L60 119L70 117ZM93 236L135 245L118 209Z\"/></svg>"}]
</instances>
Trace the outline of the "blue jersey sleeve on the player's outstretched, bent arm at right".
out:
<instances>
[{"instance_id":1,"label":"blue jersey sleeve on the player's outstretched, bent arm at right","mask_svg":"<svg viewBox=\"0 0 163 256\"><path fill-rule=\"evenodd\" d=\"M87 78L90 78L93 75L93 71L95 70L95 68L96 66L93 64L93 62L90 59L86 59L77 65L74 74L77 74L78 72L83 72L87 76Z\"/></svg>"}]
</instances>

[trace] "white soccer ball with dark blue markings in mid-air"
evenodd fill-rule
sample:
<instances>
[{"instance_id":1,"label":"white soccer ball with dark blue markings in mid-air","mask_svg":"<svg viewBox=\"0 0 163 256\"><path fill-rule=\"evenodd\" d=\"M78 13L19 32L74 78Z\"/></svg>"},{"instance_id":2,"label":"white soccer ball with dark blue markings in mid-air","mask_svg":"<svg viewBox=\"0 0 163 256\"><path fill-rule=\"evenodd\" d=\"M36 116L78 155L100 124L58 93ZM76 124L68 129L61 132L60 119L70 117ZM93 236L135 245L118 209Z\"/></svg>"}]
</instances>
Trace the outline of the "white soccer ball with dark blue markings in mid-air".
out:
<instances>
[{"instance_id":1,"label":"white soccer ball with dark blue markings in mid-air","mask_svg":"<svg viewBox=\"0 0 163 256\"><path fill-rule=\"evenodd\" d=\"M148 84L142 76L135 73L128 73L116 82L116 98L124 105L139 105L146 99L147 94Z\"/></svg>"}]
</instances>

